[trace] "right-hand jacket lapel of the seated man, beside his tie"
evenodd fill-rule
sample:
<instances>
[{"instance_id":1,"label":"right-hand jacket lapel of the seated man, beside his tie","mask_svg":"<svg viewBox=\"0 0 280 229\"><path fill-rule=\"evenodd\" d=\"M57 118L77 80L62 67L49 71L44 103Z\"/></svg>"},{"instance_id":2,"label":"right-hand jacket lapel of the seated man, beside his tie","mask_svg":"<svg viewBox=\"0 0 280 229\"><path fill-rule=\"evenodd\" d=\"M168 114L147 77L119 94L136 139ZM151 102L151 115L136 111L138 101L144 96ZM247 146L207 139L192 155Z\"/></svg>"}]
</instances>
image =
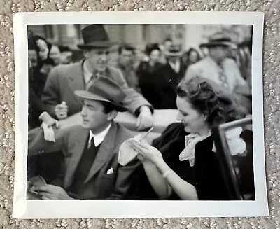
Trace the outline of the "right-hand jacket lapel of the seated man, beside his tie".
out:
<instances>
[{"instance_id":1,"label":"right-hand jacket lapel of the seated man, beside his tie","mask_svg":"<svg viewBox=\"0 0 280 229\"><path fill-rule=\"evenodd\" d=\"M99 147L99 151L97 152L97 156L92 164L89 174L87 175L87 179L85 179L85 183L87 183L87 181L90 181L92 176L97 174L97 172L99 172L99 170L103 167L103 165L113 155L114 146L116 142L115 139L117 135L116 132L117 132L117 126L116 123L113 122L108 134L106 134L104 141Z\"/></svg>"}]
</instances>

